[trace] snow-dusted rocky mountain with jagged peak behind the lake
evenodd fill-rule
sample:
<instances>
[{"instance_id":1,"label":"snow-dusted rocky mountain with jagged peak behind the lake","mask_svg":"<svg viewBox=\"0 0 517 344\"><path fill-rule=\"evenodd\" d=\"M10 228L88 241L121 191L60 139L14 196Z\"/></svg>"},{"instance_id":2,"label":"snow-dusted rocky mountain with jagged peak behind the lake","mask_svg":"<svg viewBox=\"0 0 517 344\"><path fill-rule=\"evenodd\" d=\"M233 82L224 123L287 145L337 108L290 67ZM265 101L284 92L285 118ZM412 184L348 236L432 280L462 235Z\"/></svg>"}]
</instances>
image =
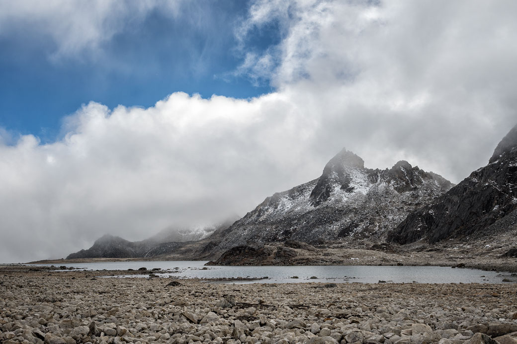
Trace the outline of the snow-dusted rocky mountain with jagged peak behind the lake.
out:
<instances>
[{"instance_id":1,"label":"snow-dusted rocky mountain with jagged peak behind the lake","mask_svg":"<svg viewBox=\"0 0 517 344\"><path fill-rule=\"evenodd\" d=\"M443 177L399 161L370 169L343 149L320 178L267 197L231 227L216 231L219 252L248 242L384 240L408 213L450 189Z\"/></svg>"}]
</instances>

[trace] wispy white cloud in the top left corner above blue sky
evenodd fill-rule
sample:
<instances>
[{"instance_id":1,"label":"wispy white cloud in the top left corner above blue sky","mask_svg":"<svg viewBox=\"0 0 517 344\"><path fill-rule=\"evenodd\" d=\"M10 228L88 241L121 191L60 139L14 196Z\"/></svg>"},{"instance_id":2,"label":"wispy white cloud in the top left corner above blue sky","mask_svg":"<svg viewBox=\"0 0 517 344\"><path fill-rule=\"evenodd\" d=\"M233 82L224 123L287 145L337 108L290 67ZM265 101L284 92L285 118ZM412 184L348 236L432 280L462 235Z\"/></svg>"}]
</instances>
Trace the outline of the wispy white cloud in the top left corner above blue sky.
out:
<instances>
[{"instance_id":1,"label":"wispy white cloud in the top left corner above blue sky","mask_svg":"<svg viewBox=\"0 0 517 344\"><path fill-rule=\"evenodd\" d=\"M1 0L0 36L37 33L54 43L53 59L96 54L101 44L123 30L138 26L153 10L172 18L181 0Z\"/></svg>"}]
</instances>

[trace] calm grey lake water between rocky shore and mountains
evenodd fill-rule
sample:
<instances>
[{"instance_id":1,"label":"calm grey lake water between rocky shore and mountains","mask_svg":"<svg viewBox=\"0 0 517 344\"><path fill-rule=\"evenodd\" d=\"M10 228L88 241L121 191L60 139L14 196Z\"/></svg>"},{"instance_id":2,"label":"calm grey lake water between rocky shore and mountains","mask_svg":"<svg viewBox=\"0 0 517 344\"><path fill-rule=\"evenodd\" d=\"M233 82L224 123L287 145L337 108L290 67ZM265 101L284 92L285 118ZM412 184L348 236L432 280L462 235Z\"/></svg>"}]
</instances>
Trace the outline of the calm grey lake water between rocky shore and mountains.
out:
<instances>
[{"instance_id":1,"label":"calm grey lake water between rocky shore and mountains","mask_svg":"<svg viewBox=\"0 0 517 344\"><path fill-rule=\"evenodd\" d=\"M503 283L503 279L517 282L510 273L475 269L451 269L450 267L391 267L366 265L314 265L286 267L204 267L206 261L125 261L56 264L90 271L102 270L147 270L159 268L165 273L160 277L173 278L262 278L260 283L378 283L379 280L393 283ZM202 270L206 268L206 270ZM149 272L150 273L150 272ZM298 278L292 278L298 276ZM316 278L310 278L315 276ZM126 277L126 276L118 276ZM127 277L148 277L128 275ZM256 280L232 281L231 283L256 283Z\"/></svg>"}]
</instances>

